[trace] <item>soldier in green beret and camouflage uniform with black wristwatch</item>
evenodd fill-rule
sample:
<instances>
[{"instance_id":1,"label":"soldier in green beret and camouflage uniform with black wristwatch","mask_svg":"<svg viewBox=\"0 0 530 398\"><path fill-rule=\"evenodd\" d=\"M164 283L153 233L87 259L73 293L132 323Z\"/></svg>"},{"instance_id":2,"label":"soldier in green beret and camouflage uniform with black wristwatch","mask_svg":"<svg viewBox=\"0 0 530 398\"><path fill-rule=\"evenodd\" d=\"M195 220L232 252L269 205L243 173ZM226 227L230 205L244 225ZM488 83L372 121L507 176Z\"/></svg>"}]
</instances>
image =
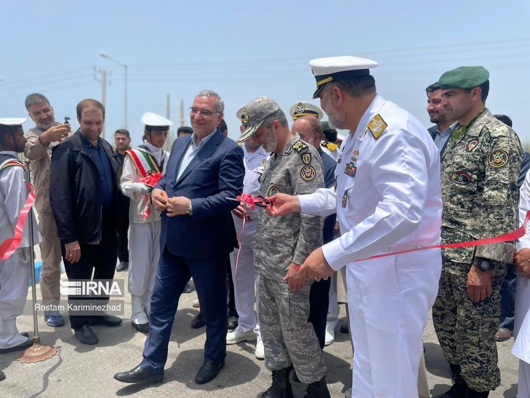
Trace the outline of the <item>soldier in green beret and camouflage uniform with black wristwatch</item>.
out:
<instances>
[{"instance_id":1,"label":"soldier in green beret and camouflage uniform with black wristwatch","mask_svg":"<svg viewBox=\"0 0 530 398\"><path fill-rule=\"evenodd\" d=\"M446 118L460 123L440 164L442 244L516 228L522 148L517 134L485 108L488 79L481 66L460 67L439 79ZM442 249L432 320L454 385L439 397L486 397L499 386L494 334L506 263L514 252L513 242Z\"/></svg>"}]
</instances>

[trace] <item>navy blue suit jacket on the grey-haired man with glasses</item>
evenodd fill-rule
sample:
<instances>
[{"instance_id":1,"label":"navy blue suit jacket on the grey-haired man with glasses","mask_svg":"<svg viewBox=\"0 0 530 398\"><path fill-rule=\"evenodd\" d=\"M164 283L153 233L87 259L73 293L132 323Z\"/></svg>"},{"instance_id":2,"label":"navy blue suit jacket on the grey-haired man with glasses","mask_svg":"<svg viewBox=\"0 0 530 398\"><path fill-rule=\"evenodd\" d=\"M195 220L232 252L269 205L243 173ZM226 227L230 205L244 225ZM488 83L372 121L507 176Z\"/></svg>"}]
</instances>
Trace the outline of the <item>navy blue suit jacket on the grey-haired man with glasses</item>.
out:
<instances>
[{"instance_id":1,"label":"navy blue suit jacket on the grey-haired man with glasses","mask_svg":"<svg viewBox=\"0 0 530 398\"><path fill-rule=\"evenodd\" d=\"M228 254L236 245L236 233L230 211L238 202L226 200L243 192L243 150L217 129L197 152L182 175L177 170L191 136L175 140L166 174L156 185L168 197L191 199L193 215L167 217L162 213L160 252L164 247L176 256L206 258Z\"/></svg>"}]
</instances>

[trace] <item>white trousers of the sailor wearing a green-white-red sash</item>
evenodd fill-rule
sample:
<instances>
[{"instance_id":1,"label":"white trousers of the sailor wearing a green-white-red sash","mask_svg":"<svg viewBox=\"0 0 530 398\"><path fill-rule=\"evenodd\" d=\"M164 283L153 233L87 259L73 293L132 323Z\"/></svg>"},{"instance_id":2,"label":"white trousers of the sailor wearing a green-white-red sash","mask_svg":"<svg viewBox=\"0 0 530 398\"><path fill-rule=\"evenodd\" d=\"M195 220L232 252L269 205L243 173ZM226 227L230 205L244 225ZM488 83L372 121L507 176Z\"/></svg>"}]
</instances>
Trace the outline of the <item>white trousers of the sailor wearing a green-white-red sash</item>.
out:
<instances>
[{"instance_id":1,"label":"white trousers of the sailor wearing a green-white-red sash","mask_svg":"<svg viewBox=\"0 0 530 398\"><path fill-rule=\"evenodd\" d=\"M160 221L131 223L129 232L129 293L153 291L160 259Z\"/></svg>"}]
</instances>

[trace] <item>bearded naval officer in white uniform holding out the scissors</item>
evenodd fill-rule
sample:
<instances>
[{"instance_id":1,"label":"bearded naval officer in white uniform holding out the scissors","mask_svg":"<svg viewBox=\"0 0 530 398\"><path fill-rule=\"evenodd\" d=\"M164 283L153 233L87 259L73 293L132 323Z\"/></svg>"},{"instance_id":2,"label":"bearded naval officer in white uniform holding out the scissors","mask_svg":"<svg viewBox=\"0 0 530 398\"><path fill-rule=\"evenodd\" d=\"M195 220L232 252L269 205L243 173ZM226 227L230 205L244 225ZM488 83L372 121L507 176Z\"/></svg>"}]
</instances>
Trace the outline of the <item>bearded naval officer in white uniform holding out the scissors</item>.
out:
<instances>
[{"instance_id":1,"label":"bearded naval officer in white uniform holding out the scissors","mask_svg":"<svg viewBox=\"0 0 530 398\"><path fill-rule=\"evenodd\" d=\"M272 216L337 212L341 237L302 264L307 278L347 266L354 397L417 397L423 328L441 272L439 249L360 261L440 242L439 155L419 121L378 96L372 60L310 62L330 124L350 130L334 188L269 198Z\"/></svg>"}]
</instances>

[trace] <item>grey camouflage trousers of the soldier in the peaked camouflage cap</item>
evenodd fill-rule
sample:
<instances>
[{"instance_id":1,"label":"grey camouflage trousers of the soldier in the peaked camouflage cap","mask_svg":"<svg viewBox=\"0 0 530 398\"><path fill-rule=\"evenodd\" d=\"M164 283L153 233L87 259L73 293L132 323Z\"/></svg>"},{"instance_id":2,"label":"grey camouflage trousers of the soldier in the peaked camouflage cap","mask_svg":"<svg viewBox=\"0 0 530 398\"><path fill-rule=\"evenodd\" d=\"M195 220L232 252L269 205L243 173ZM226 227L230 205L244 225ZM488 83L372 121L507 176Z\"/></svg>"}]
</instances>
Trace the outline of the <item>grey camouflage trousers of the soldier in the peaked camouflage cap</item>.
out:
<instances>
[{"instance_id":1,"label":"grey camouflage trousers of the soldier in the peaked camouflage cap","mask_svg":"<svg viewBox=\"0 0 530 398\"><path fill-rule=\"evenodd\" d=\"M326 374L319 340L310 322L311 281L291 292L284 281L260 278L260 329L265 349L265 367L280 370L293 364L303 383L313 383Z\"/></svg>"}]
</instances>

